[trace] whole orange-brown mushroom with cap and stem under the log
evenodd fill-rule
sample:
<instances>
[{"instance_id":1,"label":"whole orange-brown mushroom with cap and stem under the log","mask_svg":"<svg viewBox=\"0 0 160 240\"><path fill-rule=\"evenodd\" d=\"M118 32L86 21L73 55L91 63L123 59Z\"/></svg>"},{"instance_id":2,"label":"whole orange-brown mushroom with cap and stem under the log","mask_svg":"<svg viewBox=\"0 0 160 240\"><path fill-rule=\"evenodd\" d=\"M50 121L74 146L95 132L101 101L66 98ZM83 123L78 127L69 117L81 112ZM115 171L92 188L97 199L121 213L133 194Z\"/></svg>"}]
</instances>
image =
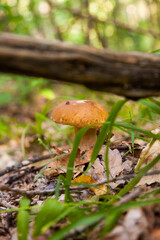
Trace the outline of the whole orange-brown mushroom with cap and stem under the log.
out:
<instances>
[{"instance_id":1,"label":"whole orange-brown mushroom with cap and stem under the log","mask_svg":"<svg viewBox=\"0 0 160 240\"><path fill-rule=\"evenodd\" d=\"M102 124L108 117L106 110L98 103L89 100L69 100L62 102L54 108L52 120L56 123L71 125L75 127L75 134L91 124ZM97 140L97 128L90 128L82 137L80 151L89 150Z\"/></svg>"}]
</instances>

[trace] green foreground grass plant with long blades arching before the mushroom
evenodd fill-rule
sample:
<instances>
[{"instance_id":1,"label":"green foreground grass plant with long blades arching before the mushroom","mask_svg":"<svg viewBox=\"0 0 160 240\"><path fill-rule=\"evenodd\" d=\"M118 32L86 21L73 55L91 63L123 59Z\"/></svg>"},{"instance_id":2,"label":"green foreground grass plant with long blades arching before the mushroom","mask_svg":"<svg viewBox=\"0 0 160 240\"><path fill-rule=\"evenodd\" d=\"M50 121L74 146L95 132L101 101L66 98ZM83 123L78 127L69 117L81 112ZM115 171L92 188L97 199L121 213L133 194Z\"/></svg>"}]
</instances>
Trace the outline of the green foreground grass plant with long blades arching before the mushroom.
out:
<instances>
[{"instance_id":1,"label":"green foreground grass plant with long blades arching before the mushroom","mask_svg":"<svg viewBox=\"0 0 160 240\"><path fill-rule=\"evenodd\" d=\"M125 102L126 101L119 101L111 111L106 123L104 123L104 126L102 127L102 130L99 135L100 137L97 140L97 143L95 145L95 148L92 154L91 163L94 162L98 154L98 151L103 144L106 134L108 132L111 133L113 126L143 133L145 136L149 138L160 140L159 135L153 134L148 130L143 130L141 128L135 127L131 123L126 124L122 122L115 122L115 118L120 108L125 104ZM160 203L159 198L145 199L145 197L147 197L148 195L146 196L144 195L143 200L142 198L139 198L135 201L130 201L127 204L126 203L121 204L120 206L116 206L115 204L117 201L119 201L120 198L123 197L124 194L127 194L129 191L131 191L139 182L139 180L143 177L143 175L149 169L151 169L151 167L153 167L154 164L156 164L159 161L160 154L155 159L153 159L153 161L150 164L148 164L143 169L141 169L137 173L137 175L134 177L134 179L131 180L116 195L110 196L110 197L108 195L106 196L104 195L103 202L99 202L99 201L95 202L93 200L79 201L78 203L72 202L71 195L69 194L69 186L71 184L73 163L74 163L74 159L76 156L80 139L89 127L85 127L81 129L76 135L75 141L73 144L73 150L68 163L66 179L61 178L61 180L63 181L63 186L66 189L65 190L66 201L67 202L69 201L69 202L59 203L57 200L53 200L53 199L47 200L44 206L40 208L38 214L35 215L35 224L34 224L35 227L34 227L34 233L33 233L34 237L44 233L51 225L53 225L53 223L56 223L64 219L66 221L66 226L54 232L53 235L49 238L50 240L63 239L64 236L66 236L66 234L70 233L71 231L74 232L74 230L76 230L79 227L84 228L84 234L85 234L86 229L90 229L91 226L96 226L99 223L99 221L101 221L102 219L105 220L105 224L101 232L101 236L103 236L113 229L113 227L116 225L120 216L123 214L123 212L127 211L128 209L133 207L147 206L148 204ZM108 152L106 151L106 154L107 153ZM106 166L108 167L107 156L106 156ZM92 184L91 186L94 186L94 185ZM58 182L57 182L56 191L59 192L59 189L60 189L60 178L58 179ZM110 198L110 200L108 200L108 197ZM97 210L92 212L92 209L94 208L95 205L97 206ZM81 208L79 208L80 206ZM21 209L19 210L21 211ZM86 214L86 210L87 210L87 214ZM55 211L57 214L55 214ZM44 220L43 223L42 223L42 219Z\"/></svg>"}]
</instances>

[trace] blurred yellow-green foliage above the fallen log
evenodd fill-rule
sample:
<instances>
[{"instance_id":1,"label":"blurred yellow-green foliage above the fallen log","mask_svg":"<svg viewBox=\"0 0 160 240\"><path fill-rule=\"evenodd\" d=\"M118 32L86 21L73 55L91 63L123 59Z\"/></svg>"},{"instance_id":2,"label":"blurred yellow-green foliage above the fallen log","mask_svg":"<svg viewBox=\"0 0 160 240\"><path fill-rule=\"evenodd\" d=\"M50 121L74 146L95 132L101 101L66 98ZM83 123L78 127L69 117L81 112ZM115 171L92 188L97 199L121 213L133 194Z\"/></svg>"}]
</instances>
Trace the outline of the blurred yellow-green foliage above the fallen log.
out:
<instances>
[{"instance_id":1,"label":"blurred yellow-green foliage above the fallen log","mask_svg":"<svg viewBox=\"0 0 160 240\"><path fill-rule=\"evenodd\" d=\"M0 30L98 48L160 48L159 0L1 0Z\"/></svg>"}]
</instances>

